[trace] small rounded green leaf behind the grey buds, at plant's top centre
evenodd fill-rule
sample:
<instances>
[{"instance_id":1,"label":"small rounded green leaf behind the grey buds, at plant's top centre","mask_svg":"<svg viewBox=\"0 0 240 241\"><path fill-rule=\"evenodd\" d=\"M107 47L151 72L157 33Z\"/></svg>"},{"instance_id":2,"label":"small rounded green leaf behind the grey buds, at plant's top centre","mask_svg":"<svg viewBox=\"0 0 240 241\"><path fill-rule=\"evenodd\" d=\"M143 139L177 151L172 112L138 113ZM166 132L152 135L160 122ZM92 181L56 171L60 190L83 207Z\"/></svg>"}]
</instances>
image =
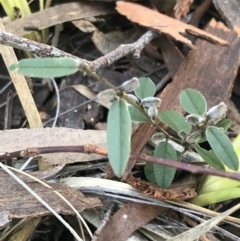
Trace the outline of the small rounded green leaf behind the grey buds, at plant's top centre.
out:
<instances>
[{"instance_id":1,"label":"small rounded green leaf behind the grey buds, at plant's top centre","mask_svg":"<svg viewBox=\"0 0 240 241\"><path fill-rule=\"evenodd\" d=\"M135 95L139 99L144 99L146 97L152 97L156 93L156 86L150 78L140 78L140 86L134 90Z\"/></svg>"}]
</instances>

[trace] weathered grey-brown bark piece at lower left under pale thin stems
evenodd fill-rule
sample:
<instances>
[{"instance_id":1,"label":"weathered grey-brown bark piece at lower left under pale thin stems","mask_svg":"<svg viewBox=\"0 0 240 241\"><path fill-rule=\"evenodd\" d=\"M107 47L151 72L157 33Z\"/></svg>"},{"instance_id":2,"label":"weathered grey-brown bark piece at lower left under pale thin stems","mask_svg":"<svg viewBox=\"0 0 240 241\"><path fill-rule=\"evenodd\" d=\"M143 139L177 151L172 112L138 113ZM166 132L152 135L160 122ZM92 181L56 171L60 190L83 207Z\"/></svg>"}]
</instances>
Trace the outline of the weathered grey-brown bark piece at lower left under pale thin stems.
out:
<instances>
[{"instance_id":1,"label":"weathered grey-brown bark piece at lower left under pale thin stems","mask_svg":"<svg viewBox=\"0 0 240 241\"><path fill-rule=\"evenodd\" d=\"M72 209L53 191L62 194L77 210L100 207L98 198L86 198L80 191L62 184L49 184L53 189L33 182L32 179L18 175L31 189L45 200L56 212L73 215ZM7 212L8 218L24 218L49 215L48 211L35 197L5 172L0 172L0 213Z\"/></svg>"}]
</instances>

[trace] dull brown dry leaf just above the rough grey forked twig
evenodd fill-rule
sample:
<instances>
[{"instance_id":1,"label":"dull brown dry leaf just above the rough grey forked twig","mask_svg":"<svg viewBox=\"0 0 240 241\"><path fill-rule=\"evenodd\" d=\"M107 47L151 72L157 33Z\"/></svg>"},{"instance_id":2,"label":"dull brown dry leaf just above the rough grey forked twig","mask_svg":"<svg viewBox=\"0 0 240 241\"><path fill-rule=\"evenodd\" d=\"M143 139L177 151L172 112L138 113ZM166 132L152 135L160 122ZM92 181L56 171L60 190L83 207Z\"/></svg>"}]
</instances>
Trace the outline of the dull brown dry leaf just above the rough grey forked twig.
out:
<instances>
[{"instance_id":1,"label":"dull brown dry leaf just above the rough grey forked twig","mask_svg":"<svg viewBox=\"0 0 240 241\"><path fill-rule=\"evenodd\" d=\"M97 49L103 54L108 54L121 44L127 44L136 41L140 37L139 32L128 30L128 31L112 31L110 33L102 33L95 31L92 36Z\"/></svg>"}]
</instances>

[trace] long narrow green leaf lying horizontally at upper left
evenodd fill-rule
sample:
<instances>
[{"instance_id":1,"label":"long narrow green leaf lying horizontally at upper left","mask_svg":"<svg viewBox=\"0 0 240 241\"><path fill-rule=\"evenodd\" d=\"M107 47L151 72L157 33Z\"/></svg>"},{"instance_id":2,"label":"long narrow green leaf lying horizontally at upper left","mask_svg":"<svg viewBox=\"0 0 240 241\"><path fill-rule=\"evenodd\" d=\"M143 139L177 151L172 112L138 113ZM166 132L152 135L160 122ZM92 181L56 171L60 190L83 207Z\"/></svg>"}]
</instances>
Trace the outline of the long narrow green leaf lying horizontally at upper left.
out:
<instances>
[{"instance_id":1,"label":"long narrow green leaf lying horizontally at upper left","mask_svg":"<svg viewBox=\"0 0 240 241\"><path fill-rule=\"evenodd\" d=\"M23 59L12 64L9 69L29 77L62 77L77 72L78 61L72 58Z\"/></svg>"}]
</instances>

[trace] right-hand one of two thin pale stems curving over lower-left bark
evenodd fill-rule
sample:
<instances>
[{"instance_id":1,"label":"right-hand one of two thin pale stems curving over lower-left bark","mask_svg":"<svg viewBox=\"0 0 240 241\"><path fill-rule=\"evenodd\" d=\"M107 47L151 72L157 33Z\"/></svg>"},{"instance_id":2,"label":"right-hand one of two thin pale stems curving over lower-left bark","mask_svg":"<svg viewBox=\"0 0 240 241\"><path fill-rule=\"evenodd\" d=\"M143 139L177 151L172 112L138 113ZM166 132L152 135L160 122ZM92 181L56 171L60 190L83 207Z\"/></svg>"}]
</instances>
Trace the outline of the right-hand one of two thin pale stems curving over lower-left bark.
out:
<instances>
[{"instance_id":1,"label":"right-hand one of two thin pale stems curving over lower-left bark","mask_svg":"<svg viewBox=\"0 0 240 241\"><path fill-rule=\"evenodd\" d=\"M1 163L1 164L2 164L2 163ZM81 220L81 222L82 222L83 225L85 226L85 228L86 228L87 232L89 233L90 237L93 236L91 230L89 229L88 225L86 224L86 222L85 222L85 220L82 218L82 216L79 214L79 212L77 211L77 209L75 209L75 207L74 207L61 193L59 193L58 191L55 191L55 190L54 190L51 186L49 186L47 183L42 182L42 181L39 180L38 178L36 178L36 177L34 177L34 176L26 173L26 172L23 172L23 171L21 171L21 170L18 170L18 169L16 169L16 168L9 167L9 166L8 166L8 167L5 167L5 168L11 169L11 170L13 170L13 171L15 171L15 172L18 172L18 173L20 173L20 174L22 174L22 175L25 175L25 176L33 179L34 181L40 183L40 184L43 185L44 187L53 190L53 192L56 193L56 194L74 211L74 213L76 214L77 218L78 218L79 220Z\"/></svg>"}]
</instances>

